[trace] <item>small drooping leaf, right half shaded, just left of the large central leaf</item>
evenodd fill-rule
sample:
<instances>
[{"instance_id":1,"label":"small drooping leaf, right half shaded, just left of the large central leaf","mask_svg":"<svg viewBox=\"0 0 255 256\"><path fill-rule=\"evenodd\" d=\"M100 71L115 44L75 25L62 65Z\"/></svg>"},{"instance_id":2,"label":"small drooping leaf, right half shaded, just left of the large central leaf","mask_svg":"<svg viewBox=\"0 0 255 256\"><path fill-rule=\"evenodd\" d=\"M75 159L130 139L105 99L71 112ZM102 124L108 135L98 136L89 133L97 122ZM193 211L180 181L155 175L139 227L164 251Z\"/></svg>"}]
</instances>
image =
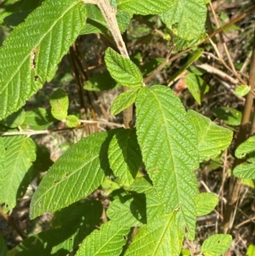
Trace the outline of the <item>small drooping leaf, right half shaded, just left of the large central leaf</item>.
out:
<instances>
[{"instance_id":1,"label":"small drooping leaf, right half shaded, just left of the large central leaf","mask_svg":"<svg viewBox=\"0 0 255 256\"><path fill-rule=\"evenodd\" d=\"M108 159L121 185L130 186L142 164L136 129L116 129L108 150Z\"/></svg>"}]
</instances>

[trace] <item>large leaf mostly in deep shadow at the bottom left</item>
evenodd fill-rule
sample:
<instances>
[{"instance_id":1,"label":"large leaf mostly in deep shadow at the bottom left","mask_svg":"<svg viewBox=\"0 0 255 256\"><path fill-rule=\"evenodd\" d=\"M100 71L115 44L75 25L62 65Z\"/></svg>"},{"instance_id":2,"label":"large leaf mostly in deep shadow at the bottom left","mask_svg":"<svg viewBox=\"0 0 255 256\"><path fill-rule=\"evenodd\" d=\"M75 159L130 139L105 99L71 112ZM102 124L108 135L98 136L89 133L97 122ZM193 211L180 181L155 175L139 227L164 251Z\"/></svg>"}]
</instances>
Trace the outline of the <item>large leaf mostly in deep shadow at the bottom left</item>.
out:
<instances>
[{"instance_id":1,"label":"large leaf mostly in deep shadow at the bottom left","mask_svg":"<svg viewBox=\"0 0 255 256\"><path fill-rule=\"evenodd\" d=\"M75 202L61 209L54 213L52 229L20 242L15 255L69 255L99 225L102 210L102 204L94 200Z\"/></svg>"}]
</instances>

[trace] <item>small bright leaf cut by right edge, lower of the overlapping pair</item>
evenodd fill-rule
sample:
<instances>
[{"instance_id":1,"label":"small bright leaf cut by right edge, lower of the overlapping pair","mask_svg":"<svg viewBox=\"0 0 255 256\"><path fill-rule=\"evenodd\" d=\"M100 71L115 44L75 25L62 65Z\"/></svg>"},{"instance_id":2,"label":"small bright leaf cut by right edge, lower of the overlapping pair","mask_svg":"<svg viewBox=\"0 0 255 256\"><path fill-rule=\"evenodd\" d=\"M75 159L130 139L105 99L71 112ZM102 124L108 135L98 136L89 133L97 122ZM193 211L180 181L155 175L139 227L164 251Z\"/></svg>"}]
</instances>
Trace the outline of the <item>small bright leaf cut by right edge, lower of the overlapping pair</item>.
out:
<instances>
[{"instance_id":1,"label":"small bright leaf cut by right edge, lower of the overlapping pair","mask_svg":"<svg viewBox=\"0 0 255 256\"><path fill-rule=\"evenodd\" d=\"M233 174L238 178L255 179L255 157L237 165L233 170Z\"/></svg>"}]
</instances>

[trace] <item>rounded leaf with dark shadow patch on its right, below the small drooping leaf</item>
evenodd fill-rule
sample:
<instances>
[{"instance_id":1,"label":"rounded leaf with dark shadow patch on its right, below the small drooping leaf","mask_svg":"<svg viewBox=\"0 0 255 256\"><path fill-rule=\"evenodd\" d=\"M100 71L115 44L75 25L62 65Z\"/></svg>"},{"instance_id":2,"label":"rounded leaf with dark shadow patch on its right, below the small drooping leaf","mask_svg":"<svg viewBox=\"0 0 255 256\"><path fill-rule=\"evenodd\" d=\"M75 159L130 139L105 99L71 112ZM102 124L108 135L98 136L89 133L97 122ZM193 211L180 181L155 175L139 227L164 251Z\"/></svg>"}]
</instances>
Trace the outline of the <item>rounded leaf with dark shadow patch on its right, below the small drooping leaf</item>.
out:
<instances>
[{"instance_id":1,"label":"rounded leaf with dark shadow patch on its right, below the small drooping leaf","mask_svg":"<svg viewBox=\"0 0 255 256\"><path fill-rule=\"evenodd\" d=\"M107 216L126 227L141 226L146 223L146 199L144 194L132 193L111 202Z\"/></svg>"}]
</instances>

